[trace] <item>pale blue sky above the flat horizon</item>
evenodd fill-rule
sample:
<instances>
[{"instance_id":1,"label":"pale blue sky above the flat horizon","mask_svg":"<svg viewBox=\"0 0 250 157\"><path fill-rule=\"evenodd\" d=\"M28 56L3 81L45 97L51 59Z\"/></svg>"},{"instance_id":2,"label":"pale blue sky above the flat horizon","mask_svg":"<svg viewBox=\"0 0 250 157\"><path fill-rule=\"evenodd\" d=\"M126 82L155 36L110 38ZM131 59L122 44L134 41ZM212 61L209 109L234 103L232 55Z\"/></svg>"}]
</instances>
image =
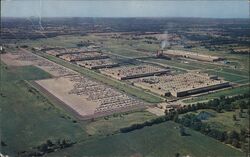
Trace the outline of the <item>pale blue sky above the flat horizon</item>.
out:
<instances>
[{"instance_id":1,"label":"pale blue sky above the flat horizon","mask_svg":"<svg viewBox=\"0 0 250 157\"><path fill-rule=\"evenodd\" d=\"M1 0L2 17L249 18L247 0Z\"/></svg>"}]
</instances>

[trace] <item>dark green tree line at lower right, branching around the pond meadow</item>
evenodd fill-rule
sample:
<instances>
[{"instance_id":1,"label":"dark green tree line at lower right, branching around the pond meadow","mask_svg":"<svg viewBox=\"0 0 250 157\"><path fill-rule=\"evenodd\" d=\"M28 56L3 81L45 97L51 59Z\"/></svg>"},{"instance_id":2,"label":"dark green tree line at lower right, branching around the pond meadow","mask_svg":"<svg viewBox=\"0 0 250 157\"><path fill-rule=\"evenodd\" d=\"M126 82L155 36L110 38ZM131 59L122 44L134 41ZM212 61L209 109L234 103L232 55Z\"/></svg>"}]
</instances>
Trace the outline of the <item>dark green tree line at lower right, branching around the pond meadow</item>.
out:
<instances>
[{"instance_id":1,"label":"dark green tree line at lower right, branching around the pond meadow","mask_svg":"<svg viewBox=\"0 0 250 157\"><path fill-rule=\"evenodd\" d=\"M223 111L234 111L235 109L240 109L240 113L242 113L243 109L248 109L247 114L249 115L250 102L249 100L246 101L243 100L243 99L248 99L249 96L250 96L249 93L243 95L237 95L234 97L221 96L219 98L215 98L208 102L186 105L171 111L166 110L164 116L145 121L144 123L133 124L131 126L121 128L120 132L127 133L137 129L142 129L146 126L152 126L155 124L173 120L181 124L182 126L192 128L216 140L219 140L226 144L230 144L236 148L241 148L242 150L247 151L248 150L247 148L249 147L247 141L247 139L249 138L249 130L242 129L240 133L236 131L230 131L230 132L221 131L218 129L211 128L208 124L203 123L201 119L197 118L197 116L194 114L187 114L184 115L182 118L179 118L179 114L185 114L200 109L213 109L218 113L221 113ZM182 135L185 135L185 129L183 129L183 127L180 128L182 128L180 129Z\"/></svg>"}]
</instances>

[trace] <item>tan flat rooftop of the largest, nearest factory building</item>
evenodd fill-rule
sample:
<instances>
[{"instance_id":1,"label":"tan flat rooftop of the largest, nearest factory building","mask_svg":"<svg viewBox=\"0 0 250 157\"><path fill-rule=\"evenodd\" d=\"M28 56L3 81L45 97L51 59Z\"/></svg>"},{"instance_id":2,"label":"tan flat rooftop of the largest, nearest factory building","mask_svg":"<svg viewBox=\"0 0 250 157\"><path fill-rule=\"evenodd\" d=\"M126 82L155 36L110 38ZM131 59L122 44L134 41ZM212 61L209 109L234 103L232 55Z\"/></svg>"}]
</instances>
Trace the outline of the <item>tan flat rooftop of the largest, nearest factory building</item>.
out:
<instances>
[{"instance_id":1,"label":"tan flat rooftop of the largest, nearest factory building","mask_svg":"<svg viewBox=\"0 0 250 157\"><path fill-rule=\"evenodd\" d=\"M213 77L214 78L214 77ZM194 90L202 90L224 85L228 83L224 80L211 79L207 74L184 73L177 75L161 75L132 80L136 86L149 89L160 95L172 94L178 96L178 93Z\"/></svg>"}]
</instances>

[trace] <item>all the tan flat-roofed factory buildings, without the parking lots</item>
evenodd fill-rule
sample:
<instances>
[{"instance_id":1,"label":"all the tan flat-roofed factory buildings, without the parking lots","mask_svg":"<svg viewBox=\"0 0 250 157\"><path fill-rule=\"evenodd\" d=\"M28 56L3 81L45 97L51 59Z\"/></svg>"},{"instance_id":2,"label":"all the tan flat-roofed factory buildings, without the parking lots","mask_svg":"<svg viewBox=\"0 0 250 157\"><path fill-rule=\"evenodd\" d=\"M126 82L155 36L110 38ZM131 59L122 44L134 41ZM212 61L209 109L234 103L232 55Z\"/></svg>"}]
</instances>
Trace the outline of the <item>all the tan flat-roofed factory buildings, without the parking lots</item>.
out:
<instances>
[{"instance_id":1,"label":"all the tan flat-roofed factory buildings, without the parking lots","mask_svg":"<svg viewBox=\"0 0 250 157\"><path fill-rule=\"evenodd\" d=\"M172 74L171 71L173 70L169 67L163 68L149 64L120 66L108 55L97 50L71 48L64 49L62 52L60 50L46 52L67 61L75 61L77 65L85 68L100 69L102 74L115 79L130 80L134 86L161 96L183 97L230 86L230 82L206 73ZM217 56L200 55L179 50L167 50L161 51L161 53L168 58L181 57L209 62L222 60Z\"/></svg>"}]
</instances>

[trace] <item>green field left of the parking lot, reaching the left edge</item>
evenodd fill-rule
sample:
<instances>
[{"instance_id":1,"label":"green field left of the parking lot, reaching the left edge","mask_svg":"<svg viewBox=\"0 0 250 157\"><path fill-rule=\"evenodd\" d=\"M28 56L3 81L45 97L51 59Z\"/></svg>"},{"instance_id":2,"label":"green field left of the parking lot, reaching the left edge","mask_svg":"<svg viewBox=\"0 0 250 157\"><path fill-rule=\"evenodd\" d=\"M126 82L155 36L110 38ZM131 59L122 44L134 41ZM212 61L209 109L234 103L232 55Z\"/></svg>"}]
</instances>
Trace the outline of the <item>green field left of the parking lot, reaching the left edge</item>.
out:
<instances>
[{"instance_id":1,"label":"green field left of the parking lot, reaching the left edge","mask_svg":"<svg viewBox=\"0 0 250 157\"><path fill-rule=\"evenodd\" d=\"M49 75L32 67L1 65L1 141L7 146L1 152L16 156L46 140L77 141L87 133L74 118L51 104L23 80L46 78Z\"/></svg>"}]
</instances>

